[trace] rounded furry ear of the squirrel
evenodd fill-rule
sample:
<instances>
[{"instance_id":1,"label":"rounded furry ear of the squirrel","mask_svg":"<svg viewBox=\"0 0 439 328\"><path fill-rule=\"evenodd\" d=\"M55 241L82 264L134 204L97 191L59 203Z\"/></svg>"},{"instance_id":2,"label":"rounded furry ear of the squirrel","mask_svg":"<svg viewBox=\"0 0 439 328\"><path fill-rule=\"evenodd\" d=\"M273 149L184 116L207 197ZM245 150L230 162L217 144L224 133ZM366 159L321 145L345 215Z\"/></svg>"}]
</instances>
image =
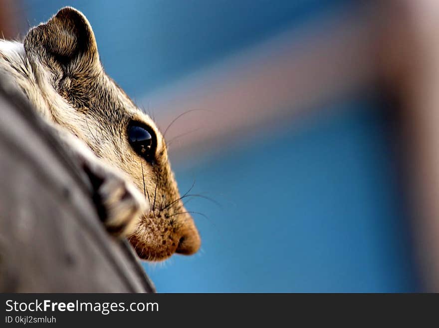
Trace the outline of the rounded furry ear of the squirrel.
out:
<instances>
[{"instance_id":1,"label":"rounded furry ear of the squirrel","mask_svg":"<svg viewBox=\"0 0 439 328\"><path fill-rule=\"evenodd\" d=\"M35 55L49 66L73 68L70 65L74 65L77 69L86 69L99 62L90 23L72 7L62 8L46 23L33 27L23 43L27 54Z\"/></svg>"}]
</instances>

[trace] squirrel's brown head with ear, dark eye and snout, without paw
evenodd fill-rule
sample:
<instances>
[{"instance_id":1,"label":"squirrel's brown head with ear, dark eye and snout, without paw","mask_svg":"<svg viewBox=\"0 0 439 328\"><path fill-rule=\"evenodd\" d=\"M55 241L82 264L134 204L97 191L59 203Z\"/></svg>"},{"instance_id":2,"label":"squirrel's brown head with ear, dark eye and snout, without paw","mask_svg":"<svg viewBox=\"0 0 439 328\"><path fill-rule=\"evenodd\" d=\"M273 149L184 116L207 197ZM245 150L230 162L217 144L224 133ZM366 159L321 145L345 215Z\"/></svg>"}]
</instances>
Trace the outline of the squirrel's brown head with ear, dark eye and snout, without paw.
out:
<instances>
[{"instance_id":1,"label":"squirrel's brown head with ear, dark eye and snout, without paw","mask_svg":"<svg viewBox=\"0 0 439 328\"><path fill-rule=\"evenodd\" d=\"M149 201L151 210L129 237L138 255L154 261L197 252L200 237L180 199L166 142L154 121L104 72L85 16L71 7L61 9L28 32L24 49L62 97L50 119L126 172Z\"/></svg>"}]
</instances>

